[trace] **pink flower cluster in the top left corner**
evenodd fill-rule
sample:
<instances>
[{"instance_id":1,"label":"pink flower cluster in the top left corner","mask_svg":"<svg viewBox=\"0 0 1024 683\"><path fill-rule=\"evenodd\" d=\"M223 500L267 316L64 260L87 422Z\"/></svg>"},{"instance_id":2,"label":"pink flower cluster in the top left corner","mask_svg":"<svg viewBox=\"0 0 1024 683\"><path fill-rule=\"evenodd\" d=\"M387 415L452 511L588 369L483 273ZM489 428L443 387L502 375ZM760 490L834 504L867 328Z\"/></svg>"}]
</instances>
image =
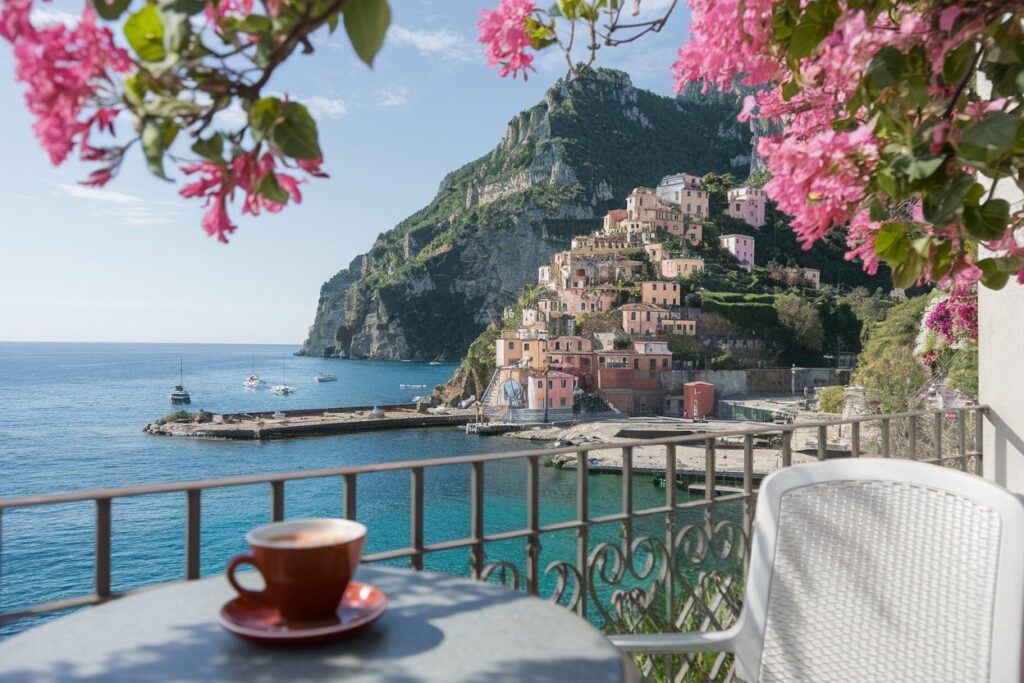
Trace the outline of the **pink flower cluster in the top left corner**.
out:
<instances>
[{"instance_id":1,"label":"pink flower cluster in the top left corner","mask_svg":"<svg viewBox=\"0 0 1024 683\"><path fill-rule=\"evenodd\" d=\"M54 165L62 163L76 144L83 159L103 159L109 151L89 145L93 127L113 132L118 114L115 99L103 89L113 86L112 72L131 71L128 53L114 44L109 29L96 26L86 3L74 28L36 28L30 20L32 0L7 0L0 7L0 36L14 46L15 78L28 84L25 100L35 116L33 129ZM110 178L96 172L91 184Z\"/></svg>"}]
</instances>

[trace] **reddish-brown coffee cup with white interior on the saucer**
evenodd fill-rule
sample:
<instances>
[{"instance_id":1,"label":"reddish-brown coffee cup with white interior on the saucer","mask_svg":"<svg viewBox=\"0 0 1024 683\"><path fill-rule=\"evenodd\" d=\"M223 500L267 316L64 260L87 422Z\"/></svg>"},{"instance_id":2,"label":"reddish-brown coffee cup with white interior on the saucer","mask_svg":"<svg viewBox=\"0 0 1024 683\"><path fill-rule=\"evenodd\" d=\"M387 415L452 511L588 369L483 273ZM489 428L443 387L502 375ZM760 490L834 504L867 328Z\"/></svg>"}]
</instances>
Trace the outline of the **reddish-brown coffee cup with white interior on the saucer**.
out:
<instances>
[{"instance_id":1,"label":"reddish-brown coffee cup with white interior on the saucer","mask_svg":"<svg viewBox=\"0 0 1024 683\"><path fill-rule=\"evenodd\" d=\"M362 557L367 527L348 519L296 519L257 526L246 535L252 553L227 565L231 587L253 600L274 605L289 621L308 622L335 613ZM236 569L251 564L266 585L239 585Z\"/></svg>"}]
</instances>

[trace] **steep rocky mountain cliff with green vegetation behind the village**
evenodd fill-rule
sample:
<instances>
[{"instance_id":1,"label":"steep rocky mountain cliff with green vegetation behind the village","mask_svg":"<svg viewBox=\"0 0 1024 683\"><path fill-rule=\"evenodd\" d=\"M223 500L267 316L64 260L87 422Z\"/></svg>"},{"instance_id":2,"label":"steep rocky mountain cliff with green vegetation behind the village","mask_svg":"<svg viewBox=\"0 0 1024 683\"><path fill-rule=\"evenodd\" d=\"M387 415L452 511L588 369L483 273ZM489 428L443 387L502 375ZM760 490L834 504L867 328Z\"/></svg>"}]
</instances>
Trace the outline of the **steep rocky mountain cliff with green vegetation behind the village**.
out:
<instances>
[{"instance_id":1,"label":"steep rocky mountain cliff with green vegetation behind the village","mask_svg":"<svg viewBox=\"0 0 1024 683\"><path fill-rule=\"evenodd\" d=\"M321 289L300 353L457 359L572 236L670 173L745 174L734 98L662 97L598 70L557 82L493 152Z\"/></svg>"}]
</instances>

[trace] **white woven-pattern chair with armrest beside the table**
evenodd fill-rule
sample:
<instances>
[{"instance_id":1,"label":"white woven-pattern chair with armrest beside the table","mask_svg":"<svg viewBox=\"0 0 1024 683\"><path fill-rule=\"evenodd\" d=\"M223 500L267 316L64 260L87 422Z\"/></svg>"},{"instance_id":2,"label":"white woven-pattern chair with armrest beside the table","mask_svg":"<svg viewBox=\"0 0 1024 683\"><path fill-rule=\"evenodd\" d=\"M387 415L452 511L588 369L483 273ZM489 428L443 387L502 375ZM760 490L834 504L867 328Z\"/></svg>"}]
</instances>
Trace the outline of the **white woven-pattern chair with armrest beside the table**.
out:
<instances>
[{"instance_id":1,"label":"white woven-pattern chair with armrest beside the table","mask_svg":"<svg viewBox=\"0 0 1024 683\"><path fill-rule=\"evenodd\" d=\"M1019 683L1022 637L1024 504L974 475L870 458L765 478L735 626L611 640L732 652L746 681Z\"/></svg>"}]
</instances>

